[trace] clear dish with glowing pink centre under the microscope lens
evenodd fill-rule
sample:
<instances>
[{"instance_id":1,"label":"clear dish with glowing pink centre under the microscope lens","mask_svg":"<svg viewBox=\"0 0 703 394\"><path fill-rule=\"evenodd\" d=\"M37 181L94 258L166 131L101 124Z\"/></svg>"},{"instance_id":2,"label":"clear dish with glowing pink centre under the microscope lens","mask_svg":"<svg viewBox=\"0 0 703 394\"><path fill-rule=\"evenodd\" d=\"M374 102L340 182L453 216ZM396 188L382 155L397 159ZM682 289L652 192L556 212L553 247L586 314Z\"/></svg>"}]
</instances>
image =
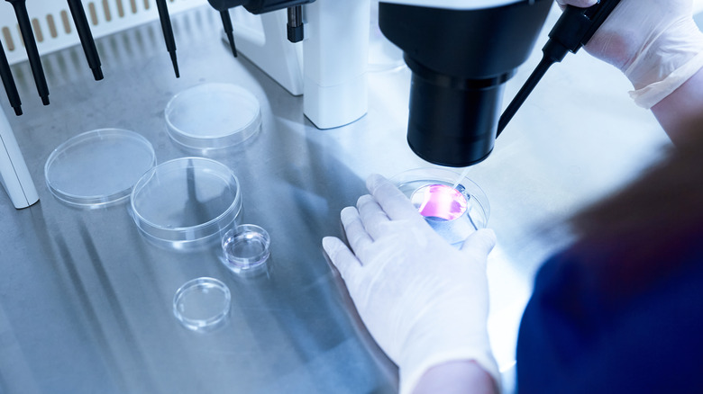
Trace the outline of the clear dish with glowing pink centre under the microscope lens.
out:
<instances>
[{"instance_id":1,"label":"clear dish with glowing pink centre under the microscope lens","mask_svg":"<svg viewBox=\"0 0 703 394\"><path fill-rule=\"evenodd\" d=\"M425 216L434 230L452 245L461 244L486 228L490 205L486 193L469 178L444 168L416 168L390 181Z\"/></svg>"}]
</instances>

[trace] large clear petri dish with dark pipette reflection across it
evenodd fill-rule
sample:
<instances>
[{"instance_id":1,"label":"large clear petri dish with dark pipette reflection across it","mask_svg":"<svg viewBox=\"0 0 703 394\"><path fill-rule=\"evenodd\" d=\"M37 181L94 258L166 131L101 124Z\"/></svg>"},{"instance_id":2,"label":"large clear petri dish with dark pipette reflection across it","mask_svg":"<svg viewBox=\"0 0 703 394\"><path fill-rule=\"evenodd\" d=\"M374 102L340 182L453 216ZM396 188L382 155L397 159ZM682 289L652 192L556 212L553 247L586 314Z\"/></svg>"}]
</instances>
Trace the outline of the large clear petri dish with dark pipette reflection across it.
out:
<instances>
[{"instance_id":1,"label":"large clear petri dish with dark pipette reflection across it","mask_svg":"<svg viewBox=\"0 0 703 394\"><path fill-rule=\"evenodd\" d=\"M132 190L132 219L159 246L209 246L242 212L242 193L229 167L182 157L153 167Z\"/></svg>"}]
</instances>

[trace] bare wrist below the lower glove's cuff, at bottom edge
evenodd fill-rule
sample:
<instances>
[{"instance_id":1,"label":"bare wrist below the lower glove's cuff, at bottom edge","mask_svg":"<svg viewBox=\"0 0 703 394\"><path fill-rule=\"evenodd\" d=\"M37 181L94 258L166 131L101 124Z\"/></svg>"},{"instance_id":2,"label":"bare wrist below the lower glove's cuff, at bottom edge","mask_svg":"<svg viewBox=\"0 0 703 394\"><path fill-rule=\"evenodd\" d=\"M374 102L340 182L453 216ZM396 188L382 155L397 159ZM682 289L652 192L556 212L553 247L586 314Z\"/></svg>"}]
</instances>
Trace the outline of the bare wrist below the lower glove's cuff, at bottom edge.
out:
<instances>
[{"instance_id":1,"label":"bare wrist below the lower glove's cuff, at bottom edge","mask_svg":"<svg viewBox=\"0 0 703 394\"><path fill-rule=\"evenodd\" d=\"M430 368L413 394L498 394L496 382L479 364L471 361L443 363Z\"/></svg>"}]
</instances>

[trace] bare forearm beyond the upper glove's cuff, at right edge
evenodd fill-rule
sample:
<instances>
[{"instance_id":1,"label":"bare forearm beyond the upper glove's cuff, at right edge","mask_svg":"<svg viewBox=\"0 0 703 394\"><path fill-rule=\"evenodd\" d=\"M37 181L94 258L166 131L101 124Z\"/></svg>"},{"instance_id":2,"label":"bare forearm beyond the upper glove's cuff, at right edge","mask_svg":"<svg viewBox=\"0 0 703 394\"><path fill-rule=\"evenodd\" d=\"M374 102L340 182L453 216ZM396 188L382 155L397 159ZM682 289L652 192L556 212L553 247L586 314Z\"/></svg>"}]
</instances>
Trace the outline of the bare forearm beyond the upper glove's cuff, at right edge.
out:
<instances>
[{"instance_id":1,"label":"bare forearm beyond the upper glove's cuff, at right edge","mask_svg":"<svg viewBox=\"0 0 703 394\"><path fill-rule=\"evenodd\" d=\"M691 133L703 132L703 68L652 107L674 145L685 143Z\"/></svg>"}]
</instances>

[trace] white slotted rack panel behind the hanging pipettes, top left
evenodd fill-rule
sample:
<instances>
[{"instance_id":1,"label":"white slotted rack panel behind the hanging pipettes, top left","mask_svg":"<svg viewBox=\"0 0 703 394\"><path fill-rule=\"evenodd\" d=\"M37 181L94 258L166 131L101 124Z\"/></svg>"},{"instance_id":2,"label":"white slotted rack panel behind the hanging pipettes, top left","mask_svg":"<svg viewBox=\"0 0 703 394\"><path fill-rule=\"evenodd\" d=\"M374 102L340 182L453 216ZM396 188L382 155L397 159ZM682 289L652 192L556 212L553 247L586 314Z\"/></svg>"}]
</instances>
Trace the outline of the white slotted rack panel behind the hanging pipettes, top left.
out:
<instances>
[{"instance_id":1,"label":"white slotted rack panel behind the hanging pipettes, top left","mask_svg":"<svg viewBox=\"0 0 703 394\"><path fill-rule=\"evenodd\" d=\"M66 1L27 0L26 4L41 55L80 43ZM203 4L205 0L168 0L171 14ZM159 19L154 0L84 0L83 7L96 39ZM26 60L13 6L3 1L0 1L0 41L10 64Z\"/></svg>"}]
</instances>

